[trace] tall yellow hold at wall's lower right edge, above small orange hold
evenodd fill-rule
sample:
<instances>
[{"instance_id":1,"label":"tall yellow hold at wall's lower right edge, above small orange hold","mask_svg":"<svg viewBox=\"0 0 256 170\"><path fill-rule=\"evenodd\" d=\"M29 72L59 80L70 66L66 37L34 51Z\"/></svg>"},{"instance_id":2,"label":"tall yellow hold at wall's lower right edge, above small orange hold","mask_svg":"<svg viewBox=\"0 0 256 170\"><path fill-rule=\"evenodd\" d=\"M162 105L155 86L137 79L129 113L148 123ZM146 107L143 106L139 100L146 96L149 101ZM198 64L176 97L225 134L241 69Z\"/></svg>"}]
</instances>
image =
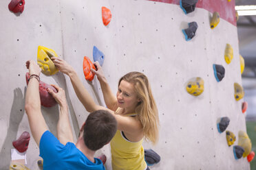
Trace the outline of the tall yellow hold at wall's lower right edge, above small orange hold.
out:
<instances>
[{"instance_id":1,"label":"tall yellow hold at wall's lower right edge, above small orange hold","mask_svg":"<svg viewBox=\"0 0 256 170\"><path fill-rule=\"evenodd\" d=\"M244 158L248 156L248 154L250 154L250 150L252 149L252 143L250 142L248 134L246 134L246 132L242 130L238 132L238 145L244 148Z\"/></svg>"}]
</instances>

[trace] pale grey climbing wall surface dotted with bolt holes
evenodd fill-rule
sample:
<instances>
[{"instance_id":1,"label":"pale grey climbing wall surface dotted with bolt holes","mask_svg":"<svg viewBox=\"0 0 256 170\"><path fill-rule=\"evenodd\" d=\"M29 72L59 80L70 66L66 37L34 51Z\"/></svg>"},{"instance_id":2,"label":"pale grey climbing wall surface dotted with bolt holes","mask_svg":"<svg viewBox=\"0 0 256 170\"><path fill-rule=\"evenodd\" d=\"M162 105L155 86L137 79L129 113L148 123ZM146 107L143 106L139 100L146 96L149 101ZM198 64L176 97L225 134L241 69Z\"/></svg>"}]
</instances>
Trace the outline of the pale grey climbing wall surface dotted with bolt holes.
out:
<instances>
[{"instance_id":1,"label":"pale grey climbing wall surface dotted with bolt holes","mask_svg":"<svg viewBox=\"0 0 256 170\"><path fill-rule=\"evenodd\" d=\"M12 141L22 132L30 132L24 112L25 61L36 60L39 45L54 49L74 66L94 100L103 106L100 84L96 78L87 82L83 75L83 57L93 60L94 46L105 54L103 70L114 93L119 78L129 71L149 77L159 111L160 140L157 145L143 145L161 156L160 163L151 169L250 169L246 158L235 160L226 133L217 131L217 120L229 117L227 130L237 139L239 130L246 132L243 99L236 101L234 97L234 83L242 85L235 1L200 0L189 14L184 14L178 0L25 1L20 15L10 12L8 3L0 1L0 169L8 169ZM107 26L101 16L103 6L112 14ZM220 23L211 29L215 11L220 13ZM187 41L182 29L193 21L198 29ZM234 54L230 64L224 60L227 43ZM225 68L221 82L215 79L213 64ZM193 77L204 80L204 92L198 97L186 92L186 83ZM88 112L78 101L69 77L41 74L41 80L65 88L76 138ZM50 131L56 134L58 106L42 107L42 112ZM100 153L107 155L105 167L110 170L109 145L96 156ZM39 149L33 139L26 156L27 167L39 169Z\"/></svg>"}]
</instances>

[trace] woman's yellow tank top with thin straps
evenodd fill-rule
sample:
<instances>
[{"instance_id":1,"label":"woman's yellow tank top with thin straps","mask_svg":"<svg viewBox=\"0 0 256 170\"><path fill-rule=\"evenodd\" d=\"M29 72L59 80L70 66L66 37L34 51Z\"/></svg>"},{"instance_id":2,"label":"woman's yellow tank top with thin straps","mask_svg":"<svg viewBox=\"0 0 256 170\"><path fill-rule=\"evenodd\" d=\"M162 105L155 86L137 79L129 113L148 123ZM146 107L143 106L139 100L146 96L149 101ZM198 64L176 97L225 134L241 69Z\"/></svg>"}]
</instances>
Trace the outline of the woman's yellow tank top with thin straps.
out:
<instances>
[{"instance_id":1,"label":"woman's yellow tank top with thin straps","mask_svg":"<svg viewBox=\"0 0 256 170\"><path fill-rule=\"evenodd\" d=\"M119 108L118 108L119 109ZM118 110L116 110L118 112ZM136 114L134 114L136 115ZM131 116L131 114L127 115ZM111 158L113 170L145 170L147 163L142 147L143 138L138 142L128 141L120 130L111 140Z\"/></svg>"}]
</instances>

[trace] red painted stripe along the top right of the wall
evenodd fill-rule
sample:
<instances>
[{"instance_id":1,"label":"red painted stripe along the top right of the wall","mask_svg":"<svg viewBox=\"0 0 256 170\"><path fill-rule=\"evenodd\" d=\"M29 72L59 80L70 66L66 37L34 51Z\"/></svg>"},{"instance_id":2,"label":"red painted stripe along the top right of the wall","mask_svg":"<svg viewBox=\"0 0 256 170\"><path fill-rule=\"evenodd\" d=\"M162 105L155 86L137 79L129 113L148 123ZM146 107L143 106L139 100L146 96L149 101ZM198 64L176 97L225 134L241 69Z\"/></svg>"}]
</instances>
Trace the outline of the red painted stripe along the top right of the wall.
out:
<instances>
[{"instance_id":1,"label":"red painted stripe along the top right of the wall","mask_svg":"<svg viewBox=\"0 0 256 170\"><path fill-rule=\"evenodd\" d=\"M148 0L148 1L157 1L163 3L173 3L180 5L180 0ZM235 0L198 0L196 4L197 8L204 8L209 12L219 12L220 17L233 25L237 25L235 19Z\"/></svg>"}]
</instances>

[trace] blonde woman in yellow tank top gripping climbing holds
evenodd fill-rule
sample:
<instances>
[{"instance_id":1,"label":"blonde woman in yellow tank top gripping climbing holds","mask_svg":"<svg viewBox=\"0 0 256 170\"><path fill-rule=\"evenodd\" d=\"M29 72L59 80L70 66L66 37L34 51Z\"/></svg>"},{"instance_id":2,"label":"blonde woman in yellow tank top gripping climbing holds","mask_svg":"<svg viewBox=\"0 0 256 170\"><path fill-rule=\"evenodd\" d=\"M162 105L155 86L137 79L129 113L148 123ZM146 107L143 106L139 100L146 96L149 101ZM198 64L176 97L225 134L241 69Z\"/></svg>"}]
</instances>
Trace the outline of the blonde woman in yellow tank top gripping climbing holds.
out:
<instances>
[{"instance_id":1,"label":"blonde woman in yellow tank top gripping climbing holds","mask_svg":"<svg viewBox=\"0 0 256 170\"><path fill-rule=\"evenodd\" d=\"M61 58L51 58L59 71L70 77L78 99L87 112L105 109L114 115L118 122L118 130L111 140L111 158L113 170L145 170L149 169L145 162L142 141L158 142L158 110L151 93L146 75L130 72L120 78L116 96L103 74L98 62L97 71L92 69L103 90L107 108L98 106L89 95L76 71Z\"/></svg>"}]
</instances>

